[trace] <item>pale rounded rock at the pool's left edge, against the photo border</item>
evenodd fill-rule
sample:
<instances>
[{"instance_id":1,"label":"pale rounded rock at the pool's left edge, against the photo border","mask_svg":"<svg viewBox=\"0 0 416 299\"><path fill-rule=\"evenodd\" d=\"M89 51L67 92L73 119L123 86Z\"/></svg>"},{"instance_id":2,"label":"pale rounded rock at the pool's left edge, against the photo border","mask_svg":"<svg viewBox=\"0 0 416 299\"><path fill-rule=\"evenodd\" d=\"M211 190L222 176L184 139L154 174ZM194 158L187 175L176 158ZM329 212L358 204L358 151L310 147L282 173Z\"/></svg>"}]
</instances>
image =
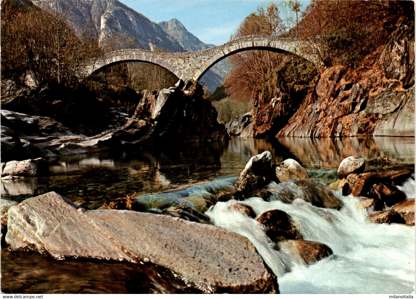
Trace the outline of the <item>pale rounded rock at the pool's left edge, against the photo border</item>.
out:
<instances>
[{"instance_id":1,"label":"pale rounded rock at the pool's left edge, against the photo border","mask_svg":"<svg viewBox=\"0 0 416 299\"><path fill-rule=\"evenodd\" d=\"M35 177L37 175L49 174L49 167L45 159L27 159L23 161L9 161L2 167L2 177Z\"/></svg>"}]
</instances>

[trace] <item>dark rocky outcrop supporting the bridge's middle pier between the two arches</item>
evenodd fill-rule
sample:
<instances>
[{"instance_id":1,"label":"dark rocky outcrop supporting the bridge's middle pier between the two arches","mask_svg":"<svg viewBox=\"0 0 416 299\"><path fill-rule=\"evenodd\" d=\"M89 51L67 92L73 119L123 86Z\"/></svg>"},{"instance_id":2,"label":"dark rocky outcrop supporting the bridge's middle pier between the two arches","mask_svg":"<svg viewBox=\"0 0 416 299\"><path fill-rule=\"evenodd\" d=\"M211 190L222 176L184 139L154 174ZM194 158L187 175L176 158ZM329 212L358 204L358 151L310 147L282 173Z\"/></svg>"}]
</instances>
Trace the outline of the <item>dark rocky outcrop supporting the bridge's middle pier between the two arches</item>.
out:
<instances>
[{"instance_id":1,"label":"dark rocky outcrop supporting the bridge's middle pier between the two arches","mask_svg":"<svg viewBox=\"0 0 416 299\"><path fill-rule=\"evenodd\" d=\"M133 143L227 140L217 116L211 103L203 99L201 85L193 85L187 92L173 87L160 92L145 90L134 115L116 134Z\"/></svg>"}]
</instances>

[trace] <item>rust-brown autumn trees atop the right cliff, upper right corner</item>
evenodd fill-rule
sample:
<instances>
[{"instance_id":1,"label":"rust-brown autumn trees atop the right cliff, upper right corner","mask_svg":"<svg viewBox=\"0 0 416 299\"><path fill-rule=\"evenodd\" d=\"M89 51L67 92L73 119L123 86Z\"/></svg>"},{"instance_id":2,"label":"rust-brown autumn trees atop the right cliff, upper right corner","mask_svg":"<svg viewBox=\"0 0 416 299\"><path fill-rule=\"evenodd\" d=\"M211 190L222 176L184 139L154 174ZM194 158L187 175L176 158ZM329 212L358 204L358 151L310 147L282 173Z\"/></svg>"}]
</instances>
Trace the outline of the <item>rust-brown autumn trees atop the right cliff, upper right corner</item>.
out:
<instances>
[{"instance_id":1,"label":"rust-brown autumn trees atop the right cliff, upper right corner","mask_svg":"<svg viewBox=\"0 0 416 299\"><path fill-rule=\"evenodd\" d=\"M297 26L326 66L355 65L384 45L401 15L414 19L412 1L311 1Z\"/></svg>"}]
</instances>

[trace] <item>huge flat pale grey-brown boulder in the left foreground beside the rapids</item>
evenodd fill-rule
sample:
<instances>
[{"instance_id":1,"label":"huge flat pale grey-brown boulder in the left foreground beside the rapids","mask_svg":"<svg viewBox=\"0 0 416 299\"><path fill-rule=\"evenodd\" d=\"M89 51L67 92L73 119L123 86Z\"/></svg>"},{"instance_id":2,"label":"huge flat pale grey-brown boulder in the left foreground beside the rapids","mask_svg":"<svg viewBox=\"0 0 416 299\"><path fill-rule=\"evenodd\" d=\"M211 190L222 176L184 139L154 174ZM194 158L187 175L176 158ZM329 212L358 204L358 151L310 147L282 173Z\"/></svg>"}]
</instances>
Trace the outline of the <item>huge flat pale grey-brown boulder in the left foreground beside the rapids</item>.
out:
<instances>
[{"instance_id":1,"label":"huge flat pale grey-brown boulder in the left foreground beside the rapids","mask_svg":"<svg viewBox=\"0 0 416 299\"><path fill-rule=\"evenodd\" d=\"M206 293L275 292L245 237L208 224L126 210L85 210L49 192L10 207L6 242L55 259L151 262Z\"/></svg>"}]
</instances>

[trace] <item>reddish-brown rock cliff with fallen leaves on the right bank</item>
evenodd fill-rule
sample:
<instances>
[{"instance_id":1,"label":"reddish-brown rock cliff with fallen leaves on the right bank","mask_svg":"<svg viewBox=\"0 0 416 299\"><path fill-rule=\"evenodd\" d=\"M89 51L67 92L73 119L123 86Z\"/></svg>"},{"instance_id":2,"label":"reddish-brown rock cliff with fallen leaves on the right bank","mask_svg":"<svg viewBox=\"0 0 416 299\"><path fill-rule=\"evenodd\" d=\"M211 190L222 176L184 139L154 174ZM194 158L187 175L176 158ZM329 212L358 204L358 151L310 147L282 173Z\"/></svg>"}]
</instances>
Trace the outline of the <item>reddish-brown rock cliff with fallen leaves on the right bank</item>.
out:
<instances>
[{"instance_id":1,"label":"reddish-brown rock cliff with fallen leaves on the right bank","mask_svg":"<svg viewBox=\"0 0 416 299\"><path fill-rule=\"evenodd\" d=\"M414 27L399 20L359 67L329 67L276 137L414 136Z\"/></svg>"}]
</instances>

